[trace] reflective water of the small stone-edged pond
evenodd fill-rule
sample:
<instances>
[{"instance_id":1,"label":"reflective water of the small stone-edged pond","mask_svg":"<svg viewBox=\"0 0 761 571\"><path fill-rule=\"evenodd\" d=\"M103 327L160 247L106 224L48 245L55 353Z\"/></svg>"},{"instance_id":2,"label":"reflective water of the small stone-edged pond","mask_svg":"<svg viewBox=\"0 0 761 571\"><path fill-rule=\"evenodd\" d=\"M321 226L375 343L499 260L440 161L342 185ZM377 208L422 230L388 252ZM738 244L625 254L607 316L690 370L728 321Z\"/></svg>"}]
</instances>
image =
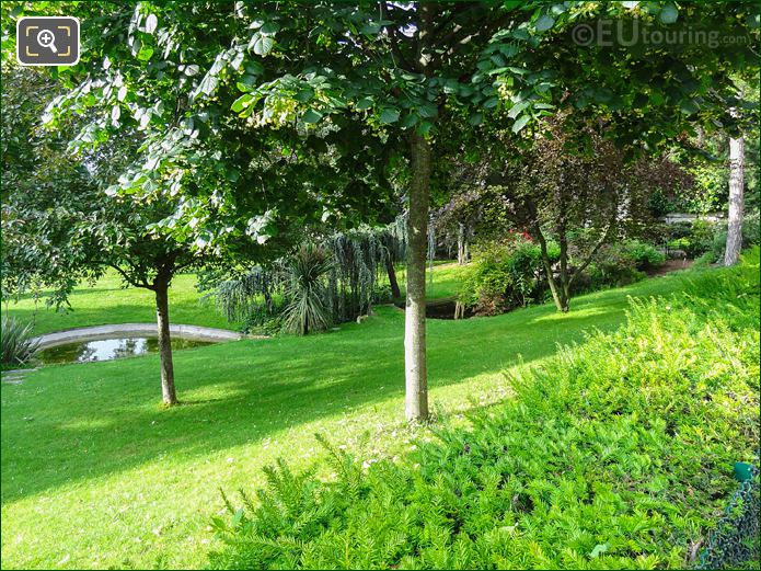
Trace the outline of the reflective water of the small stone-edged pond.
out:
<instances>
[{"instance_id":1,"label":"reflective water of the small stone-edged pond","mask_svg":"<svg viewBox=\"0 0 761 571\"><path fill-rule=\"evenodd\" d=\"M210 345L214 341L196 341L191 339L172 338L172 349L182 350ZM65 345L46 349L37 353L43 363L88 363L91 361L113 361L115 358L134 357L146 353L157 353L157 338L130 336L99 339L96 341L76 341Z\"/></svg>"}]
</instances>

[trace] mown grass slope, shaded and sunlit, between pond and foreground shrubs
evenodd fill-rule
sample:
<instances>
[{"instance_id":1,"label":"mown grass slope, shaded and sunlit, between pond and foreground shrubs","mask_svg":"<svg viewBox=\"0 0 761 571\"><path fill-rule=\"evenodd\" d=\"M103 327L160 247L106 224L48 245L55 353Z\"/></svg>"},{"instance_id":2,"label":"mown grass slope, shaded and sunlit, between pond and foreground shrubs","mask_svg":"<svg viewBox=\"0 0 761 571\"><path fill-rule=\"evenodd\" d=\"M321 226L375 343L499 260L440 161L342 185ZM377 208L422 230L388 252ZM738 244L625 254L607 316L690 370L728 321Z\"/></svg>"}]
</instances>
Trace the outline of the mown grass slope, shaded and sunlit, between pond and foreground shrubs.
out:
<instances>
[{"instance_id":1,"label":"mown grass slope, shaded and sunlit, between pond and foreground shrubs","mask_svg":"<svg viewBox=\"0 0 761 571\"><path fill-rule=\"evenodd\" d=\"M616 327L627 295L680 284L674 275L599 292L568 315L545 305L430 321L435 410L499 399L501 372L521 358ZM92 322L114 320L92 310ZM405 449L415 431L402 421L402 312L380 308L330 334L177 352L185 404L172 410L157 406L155 356L51 366L3 385L3 568L203 566L219 487L251 489L278 456L310 462L315 432L366 458Z\"/></svg>"}]
</instances>

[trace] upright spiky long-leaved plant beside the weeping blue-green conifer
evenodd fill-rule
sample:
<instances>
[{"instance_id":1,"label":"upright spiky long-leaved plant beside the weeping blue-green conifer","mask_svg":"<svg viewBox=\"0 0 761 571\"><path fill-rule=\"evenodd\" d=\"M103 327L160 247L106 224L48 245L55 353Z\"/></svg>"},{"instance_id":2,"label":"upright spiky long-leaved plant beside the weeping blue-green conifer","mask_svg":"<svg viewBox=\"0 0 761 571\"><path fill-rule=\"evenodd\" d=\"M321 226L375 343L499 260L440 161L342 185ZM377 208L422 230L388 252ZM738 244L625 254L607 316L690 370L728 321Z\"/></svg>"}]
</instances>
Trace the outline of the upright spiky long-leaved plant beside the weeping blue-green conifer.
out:
<instances>
[{"instance_id":1,"label":"upright spiky long-leaved plant beside the weeping blue-green conifer","mask_svg":"<svg viewBox=\"0 0 761 571\"><path fill-rule=\"evenodd\" d=\"M288 260L290 281L284 312L286 330L305 335L327 329L331 317L324 304L323 276L331 271L330 253L312 243L301 244Z\"/></svg>"}]
</instances>

